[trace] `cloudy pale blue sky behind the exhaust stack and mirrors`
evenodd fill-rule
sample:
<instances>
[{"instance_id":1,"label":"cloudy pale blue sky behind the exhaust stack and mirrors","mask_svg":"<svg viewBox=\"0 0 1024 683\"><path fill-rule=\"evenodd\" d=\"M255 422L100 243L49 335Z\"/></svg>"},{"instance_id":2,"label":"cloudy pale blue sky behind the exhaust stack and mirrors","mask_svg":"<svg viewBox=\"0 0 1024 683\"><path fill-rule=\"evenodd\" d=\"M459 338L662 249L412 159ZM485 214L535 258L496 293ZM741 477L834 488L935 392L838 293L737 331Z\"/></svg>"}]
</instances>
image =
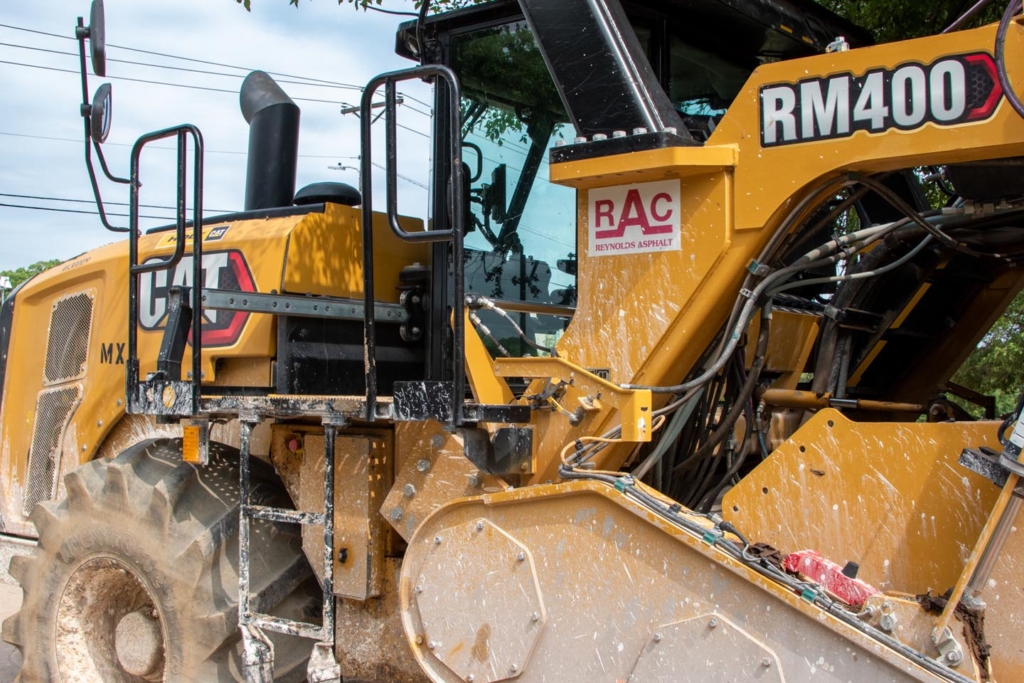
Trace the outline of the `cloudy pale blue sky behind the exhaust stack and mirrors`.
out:
<instances>
[{"instance_id":1,"label":"cloudy pale blue sky behind the exhaust stack and mirrors","mask_svg":"<svg viewBox=\"0 0 1024 683\"><path fill-rule=\"evenodd\" d=\"M71 258L119 236L100 226L88 203L78 44L69 37L77 16L88 23L89 1L0 5L0 205L37 207L0 206L2 270ZM409 9L412 3L386 6ZM127 175L129 151L140 134L196 124L207 148L205 206L213 212L242 208L248 127L238 89L250 70L274 74L302 108L298 186L316 180L358 185L355 170L329 169L358 164L358 120L342 116L342 103L358 103L358 86L378 73L412 66L393 49L404 17L356 11L336 0L301 0L298 9L288 0L253 0L251 12L233 0L106 0L105 9L108 78L90 77L89 86L94 91L110 82L114 89L114 124L104 145L113 172ZM399 172L406 176L399 209L422 215L431 94L421 84L402 89L399 124L413 130L399 130ZM153 207L141 213L157 217L143 227L165 224L161 217L172 214L161 207L173 205L174 159L166 148L142 157L141 203ZM376 169L377 187L382 174ZM110 213L127 213L125 186L103 183L102 190ZM127 218L112 222L124 225Z\"/></svg>"}]
</instances>

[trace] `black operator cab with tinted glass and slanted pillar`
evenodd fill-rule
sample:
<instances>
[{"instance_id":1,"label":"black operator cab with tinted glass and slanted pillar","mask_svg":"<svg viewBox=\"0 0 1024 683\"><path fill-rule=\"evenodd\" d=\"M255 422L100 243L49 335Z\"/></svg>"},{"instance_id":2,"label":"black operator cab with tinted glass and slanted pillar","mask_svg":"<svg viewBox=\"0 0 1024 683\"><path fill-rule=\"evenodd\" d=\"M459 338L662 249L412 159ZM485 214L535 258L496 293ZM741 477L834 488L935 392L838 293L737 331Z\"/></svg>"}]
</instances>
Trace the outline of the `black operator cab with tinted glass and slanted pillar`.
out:
<instances>
[{"instance_id":1,"label":"black operator cab with tinted glass and slanted pillar","mask_svg":"<svg viewBox=\"0 0 1024 683\"><path fill-rule=\"evenodd\" d=\"M550 182L552 160L701 144L760 65L823 52L840 36L851 46L870 43L863 30L804 0L624 2L624 17L608 3L611 17L632 28L612 45L587 25L594 12L575 2L522 2L532 26L518 2L499 0L431 16L423 31L407 23L396 51L450 67L462 83L466 291L516 311L526 335L546 346L577 298L575 190ZM443 93L436 105L443 121ZM447 177L444 155L435 159L435 177ZM532 352L500 316L480 315L514 355Z\"/></svg>"}]
</instances>

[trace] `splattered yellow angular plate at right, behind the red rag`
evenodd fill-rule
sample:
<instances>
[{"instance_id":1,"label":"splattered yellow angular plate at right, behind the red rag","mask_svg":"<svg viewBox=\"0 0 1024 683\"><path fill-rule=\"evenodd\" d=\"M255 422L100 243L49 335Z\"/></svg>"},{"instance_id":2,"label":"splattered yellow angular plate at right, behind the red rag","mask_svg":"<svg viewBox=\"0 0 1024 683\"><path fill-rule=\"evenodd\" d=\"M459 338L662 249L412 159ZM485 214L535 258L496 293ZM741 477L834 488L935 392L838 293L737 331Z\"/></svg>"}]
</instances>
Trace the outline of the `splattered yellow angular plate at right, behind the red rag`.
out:
<instances>
[{"instance_id":1,"label":"splattered yellow angular plate at right, behind the red rag","mask_svg":"<svg viewBox=\"0 0 1024 683\"><path fill-rule=\"evenodd\" d=\"M995 422L851 422L823 410L730 490L722 515L783 552L813 549L883 590L944 592L998 496L957 464Z\"/></svg>"}]
</instances>

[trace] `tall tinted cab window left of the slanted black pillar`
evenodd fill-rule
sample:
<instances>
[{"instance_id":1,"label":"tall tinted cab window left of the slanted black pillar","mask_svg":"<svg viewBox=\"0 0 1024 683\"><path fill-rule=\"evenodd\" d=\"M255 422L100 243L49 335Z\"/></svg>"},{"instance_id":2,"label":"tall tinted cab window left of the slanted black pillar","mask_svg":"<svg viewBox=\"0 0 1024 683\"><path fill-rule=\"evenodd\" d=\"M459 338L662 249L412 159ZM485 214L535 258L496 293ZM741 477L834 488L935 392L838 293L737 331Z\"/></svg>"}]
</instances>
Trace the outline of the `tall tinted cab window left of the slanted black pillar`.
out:
<instances>
[{"instance_id":1,"label":"tall tinted cab window left of the slanted black pillar","mask_svg":"<svg viewBox=\"0 0 1024 683\"><path fill-rule=\"evenodd\" d=\"M518 308L550 346L575 305L577 233L575 190L551 183L548 151L572 126L524 22L453 36L451 49L471 179L466 289ZM535 352L500 317L485 324L513 354Z\"/></svg>"}]
</instances>

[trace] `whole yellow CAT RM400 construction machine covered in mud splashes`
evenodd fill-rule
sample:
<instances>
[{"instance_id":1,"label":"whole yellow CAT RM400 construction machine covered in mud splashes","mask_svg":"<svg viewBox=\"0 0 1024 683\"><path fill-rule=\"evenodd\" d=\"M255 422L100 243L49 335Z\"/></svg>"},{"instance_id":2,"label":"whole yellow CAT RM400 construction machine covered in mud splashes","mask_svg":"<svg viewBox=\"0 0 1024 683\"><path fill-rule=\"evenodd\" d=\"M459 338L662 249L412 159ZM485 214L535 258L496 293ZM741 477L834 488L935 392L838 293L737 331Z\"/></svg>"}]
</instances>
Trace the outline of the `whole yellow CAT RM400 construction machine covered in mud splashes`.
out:
<instances>
[{"instance_id":1,"label":"whole yellow CAT RM400 construction machine covered in mud splashes","mask_svg":"<svg viewBox=\"0 0 1024 683\"><path fill-rule=\"evenodd\" d=\"M295 191L261 72L215 218L201 131L120 177L83 104L127 239L0 312L20 680L1024 681L1024 441L950 382L1024 287L1020 0L884 45L808 0L423 5L359 188Z\"/></svg>"}]
</instances>

